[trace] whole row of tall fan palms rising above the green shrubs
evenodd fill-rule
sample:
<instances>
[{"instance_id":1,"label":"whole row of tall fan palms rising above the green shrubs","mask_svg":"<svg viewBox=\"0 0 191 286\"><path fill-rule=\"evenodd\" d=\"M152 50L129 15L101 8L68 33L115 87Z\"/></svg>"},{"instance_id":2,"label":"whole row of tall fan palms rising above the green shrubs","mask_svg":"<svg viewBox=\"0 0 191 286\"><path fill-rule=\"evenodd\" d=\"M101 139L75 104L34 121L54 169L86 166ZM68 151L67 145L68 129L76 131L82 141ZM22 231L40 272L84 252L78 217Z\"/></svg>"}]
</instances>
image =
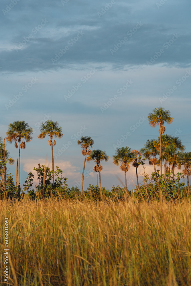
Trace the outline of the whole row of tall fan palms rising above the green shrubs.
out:
<instances>
[{"instance_id":1,"label":"whole row of tall fan palms rising above the green shrubs","mask_svg":"<svg viewBox=\"0 0 191 286\"><path fill-rule=\"evenodd\" d=\"M115 155L112 156L113 164L116 166L120 165L121 171L124 171L125 174L125 190L127 191L127 177L126 172L130 168L130 164L135 167L136 177L137 177L137 188L139 188L137 168L139 165L144 165L144 161L148 159L149 164L154 166L154 173L157 176L156 166L160 166L160 175L163 174L163 162L164 162L164 178L166 174L172 172L174 179L174 170L175 167L181 169L182 173L187 176L187 192L189 193L189 176L191 175L191 152L183 152L185 146L182 144L181 140L178 137L170 136L165 134L164 124L171 124L173 122L173 117L170 114L169 110L165 110L162 107L155 108L153 112L148 114L149 124L152 127L160 126L159 134L160 136L157 139L147 140L144 147L140 150L132 150L130 147L125 146L121 148L116 148ZM55 138L62 138L62 128L59 126L58 122L52 120L47 120L40 125L40 134L38 138L40 140L48 136L48 144L51 146L52 151L52 185L54 186L54 153L53 147L56 145ZM19 149L18 159L17 159L17 171L16 171L16 186L18 193L20 192L20 150L26 148L25 142L30 142L32 140L33 129L29 127L29 124L25 121L14 121L8 126L6 132L7 137L5 138L7 142L15 142L15 148ZM6 182L6 164L14 164L14 159L10 157L9 151L5 148L5 139L0 137L0 188L1 184ZM99 181L99 188L101 190L101 162L107 162L109 156L103 150L91 150L94 145L94 140L90 136L82 136L78 140L77 144L82 148L82 155L84 157L84 165L82 171L82 186L81 192L83 194L84 188L84 170L85 163L94 161L94 171L97 172L97 186ZM143 156L143 158L142 158ZM144 166L143 166L144 169ZM145 173L145 169L144 169ZM39 182L40 186L40 182Z\"/></svg>"}]
</instances>

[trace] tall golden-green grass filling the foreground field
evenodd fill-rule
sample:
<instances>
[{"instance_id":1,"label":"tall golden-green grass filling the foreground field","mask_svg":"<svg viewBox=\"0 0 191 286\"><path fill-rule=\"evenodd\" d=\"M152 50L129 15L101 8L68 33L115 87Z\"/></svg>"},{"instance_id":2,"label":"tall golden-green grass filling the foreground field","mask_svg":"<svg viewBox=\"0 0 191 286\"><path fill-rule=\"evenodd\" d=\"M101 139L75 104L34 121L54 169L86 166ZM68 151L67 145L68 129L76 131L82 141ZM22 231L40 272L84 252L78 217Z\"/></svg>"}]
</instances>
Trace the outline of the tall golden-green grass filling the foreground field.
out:
<instances>
[{"instance_id":1,"label":"tall golden-green grass filling the foreground field","mask_svg":"<svg viewBox=\"0 0 191 286\"><path fill-rule=\"evenodd\" d=\"M0 201L1 268L9 218L9 284L191 285L191 203Z\"/></svg>"}]
</instances>

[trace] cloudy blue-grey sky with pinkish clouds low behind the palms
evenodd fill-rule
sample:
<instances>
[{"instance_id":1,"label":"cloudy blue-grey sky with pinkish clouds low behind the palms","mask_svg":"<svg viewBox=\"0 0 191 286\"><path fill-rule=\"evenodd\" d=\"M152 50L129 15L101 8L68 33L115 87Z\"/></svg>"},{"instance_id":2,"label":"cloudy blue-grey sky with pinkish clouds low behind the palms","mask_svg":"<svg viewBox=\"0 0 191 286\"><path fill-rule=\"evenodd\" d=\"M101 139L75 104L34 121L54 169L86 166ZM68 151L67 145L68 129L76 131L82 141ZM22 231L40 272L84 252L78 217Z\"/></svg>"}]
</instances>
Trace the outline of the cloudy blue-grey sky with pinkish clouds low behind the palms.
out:
<instances>
[{"instance_id":1,"label":"cloudy blue-grey sky with pinkish clouds low behind the palms","mask_svg":"<svg viewBox=\"0 0 191 286\"><path fill-rule=\"evenodd\" d=\"M84 156L77 140L94 139L105 150L101 183L124 184L113 165L116 147L143 148L158 137L147 116L159 106L173 123L165 134L178 136L191 150L191 32L188 0L7 0L0 2L0 136L10 122L24 120L33 140L21 150L21 187L34 167L51 167L48 138L39 126L58 121L64 136L56 140L54 165L81 186ZM18 158L14 144L6 147ZM47 160L47 161L46 161ZM153 166L145 165L146 173ZM84 189L96 184L94 163L86 163ZM16 176L16 163L8 166ZM143 169L138 168L142 181ZM136 184L133 166L127 187Z\"/></svg>"}]
</instances>

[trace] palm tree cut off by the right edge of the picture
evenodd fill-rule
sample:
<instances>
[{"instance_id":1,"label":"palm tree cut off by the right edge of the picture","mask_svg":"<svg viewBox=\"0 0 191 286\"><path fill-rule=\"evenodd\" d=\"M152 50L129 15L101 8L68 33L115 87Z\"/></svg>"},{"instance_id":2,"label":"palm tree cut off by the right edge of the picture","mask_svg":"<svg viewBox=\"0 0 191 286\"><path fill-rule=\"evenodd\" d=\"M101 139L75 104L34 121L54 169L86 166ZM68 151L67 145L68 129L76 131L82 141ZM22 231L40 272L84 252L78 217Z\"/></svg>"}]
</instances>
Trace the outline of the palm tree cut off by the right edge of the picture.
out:
<instances>
[{"instance_id":1,"label":"palm tree cut off by the right edge of the picture","mask_svg":"<svg viewBox=\"0 0 191 286\"><path fill-rule=\"evenodd\" d=\"M191 175L191 152L180 153L177 158L178 169L180 170L182 165L184 166L184 170L182 173L187 175L187 190L189 194L189 176Z\"/></svg>"}]
</instances>

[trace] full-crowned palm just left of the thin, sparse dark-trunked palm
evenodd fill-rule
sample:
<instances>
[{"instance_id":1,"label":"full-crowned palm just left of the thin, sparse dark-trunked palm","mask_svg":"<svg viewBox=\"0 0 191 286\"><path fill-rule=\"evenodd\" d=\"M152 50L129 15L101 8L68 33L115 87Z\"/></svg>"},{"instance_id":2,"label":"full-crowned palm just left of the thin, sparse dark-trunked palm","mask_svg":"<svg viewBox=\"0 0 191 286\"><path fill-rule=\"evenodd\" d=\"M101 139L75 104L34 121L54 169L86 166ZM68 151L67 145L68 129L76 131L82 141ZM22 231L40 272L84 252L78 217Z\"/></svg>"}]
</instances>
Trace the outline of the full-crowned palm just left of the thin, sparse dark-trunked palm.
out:
<instances>
[{"instance_id":1,"label":"full-crowned palm just left of the thin, sparse dark-trunked palm","mask_svg":"<svg viewBox=\"0 0 191 286\"><path fill-rule=\"evenodd\" d=\"M131 148L127 146L121 147L121 148L117 147L115 150L115 155L112 156L112 158L113 158L113 164L116 166L119 166L119 163L120 163L121 171L125 172L125 190L127 192L126 172L129 170L130 168L129 164L133 162L133 159L135 158L135 154L133 154Z\"/></svg>"}]
</instances>

